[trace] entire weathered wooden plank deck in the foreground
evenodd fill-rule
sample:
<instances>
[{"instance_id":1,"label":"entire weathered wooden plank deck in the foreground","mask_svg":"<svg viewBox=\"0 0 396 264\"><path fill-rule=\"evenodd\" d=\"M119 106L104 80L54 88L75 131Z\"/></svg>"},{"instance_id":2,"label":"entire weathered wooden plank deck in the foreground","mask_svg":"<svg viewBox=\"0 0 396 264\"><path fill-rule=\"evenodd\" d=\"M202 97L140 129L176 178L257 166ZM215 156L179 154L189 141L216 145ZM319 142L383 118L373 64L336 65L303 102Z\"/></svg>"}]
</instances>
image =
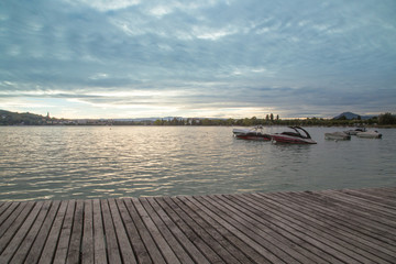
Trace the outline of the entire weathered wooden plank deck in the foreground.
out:
<instances>
[{"instance_id":1,"label":"entire weathered wooden plank deck in the foreground","mask_svg":"<svg viewBox=\"0 0 396 264\"><path fill-rule=\"evenodd\" d=\"M396 188L0 204L0 263L396 263Z\"/></svg>"}]
</instances>

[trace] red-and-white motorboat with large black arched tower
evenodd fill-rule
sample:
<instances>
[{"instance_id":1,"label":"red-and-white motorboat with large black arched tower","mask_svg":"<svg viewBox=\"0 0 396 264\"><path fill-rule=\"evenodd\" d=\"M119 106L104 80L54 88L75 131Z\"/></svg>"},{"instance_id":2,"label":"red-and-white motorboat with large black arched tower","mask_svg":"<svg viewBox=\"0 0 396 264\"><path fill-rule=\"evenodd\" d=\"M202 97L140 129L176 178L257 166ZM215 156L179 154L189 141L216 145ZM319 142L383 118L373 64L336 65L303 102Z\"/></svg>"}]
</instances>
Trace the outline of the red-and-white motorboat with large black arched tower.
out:
<instances>
[{"instance_id":1,"label":"red-and-white motorboat with large black arched tower","mask_svg":"<svg viewBox=\"0 0 396 264\"><path fill-rule=\"evenodd\" d=\"M273 142L275 143L288 143L288 144L317 144L310 134L300 127L289 127L295 132L282 132L271 134ZM301 133L302 132L302 133Z\"/></svg>"}]
</instances>

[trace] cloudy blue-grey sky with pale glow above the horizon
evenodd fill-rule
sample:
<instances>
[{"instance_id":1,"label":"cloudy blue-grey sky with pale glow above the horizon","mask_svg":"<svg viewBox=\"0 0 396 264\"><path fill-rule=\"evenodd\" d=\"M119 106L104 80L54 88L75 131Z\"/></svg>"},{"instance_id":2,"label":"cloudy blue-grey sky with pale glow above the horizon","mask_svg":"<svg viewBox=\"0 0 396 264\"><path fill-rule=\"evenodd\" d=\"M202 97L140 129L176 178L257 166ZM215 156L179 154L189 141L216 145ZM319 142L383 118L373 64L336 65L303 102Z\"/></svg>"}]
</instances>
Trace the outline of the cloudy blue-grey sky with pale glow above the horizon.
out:
<instances>
[{"instance_id":1,"label":"cloudy blue-grey sky with pale glow above the horizon","mask_svg":"<svg viewBox=\"0 0 396 264\"><path fill-rule=\"evenodd\" d=\"M395 113L396 1L2 0L0 109Z\"/></svg>"}]
</instances>

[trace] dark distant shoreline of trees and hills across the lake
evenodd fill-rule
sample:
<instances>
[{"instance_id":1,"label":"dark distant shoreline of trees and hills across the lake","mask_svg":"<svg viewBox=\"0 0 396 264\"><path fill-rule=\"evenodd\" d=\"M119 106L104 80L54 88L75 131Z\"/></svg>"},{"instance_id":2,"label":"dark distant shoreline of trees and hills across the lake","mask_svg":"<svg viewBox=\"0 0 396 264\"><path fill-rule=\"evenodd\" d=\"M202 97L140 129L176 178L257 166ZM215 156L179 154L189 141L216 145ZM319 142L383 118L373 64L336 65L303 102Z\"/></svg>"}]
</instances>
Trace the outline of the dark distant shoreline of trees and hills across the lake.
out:
<instances>
[{"instance_id":1,"label":"dark distant shoreline of trees and hills across the lake","mask_svg":"<svg viewBox=\"0 0 396 264\"><path fill-rule=\"evenodd\" d=\"M378 117L348 119L341 116L332 119L304 118L280 119L278 114L266 114L265 118L210 119L210 118L160 118L156 120L113 120L113 119L57 119L50 114L16 113L0 110L0 125L322 125L322 127L389 127L396 128L396 116L389 112Z\"/></svg>"}]
</instances>

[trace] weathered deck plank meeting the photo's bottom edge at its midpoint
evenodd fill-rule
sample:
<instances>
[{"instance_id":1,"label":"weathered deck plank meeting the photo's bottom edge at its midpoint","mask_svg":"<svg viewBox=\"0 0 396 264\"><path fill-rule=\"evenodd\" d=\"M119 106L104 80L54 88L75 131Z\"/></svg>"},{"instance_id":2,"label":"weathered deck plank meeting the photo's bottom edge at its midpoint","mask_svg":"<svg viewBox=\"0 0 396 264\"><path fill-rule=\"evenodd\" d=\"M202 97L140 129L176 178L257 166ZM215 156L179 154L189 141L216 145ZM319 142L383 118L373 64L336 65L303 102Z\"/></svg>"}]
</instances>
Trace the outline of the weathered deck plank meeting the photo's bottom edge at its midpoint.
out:
<instances>
[{"instance_id":1,"label":"weathered deck plank meeting the photo's bottom edge at its midpoint","mask_svg":"<svg viewBox=\"0 0 396 264\"><path fill-rule=\"evenodd\" d=\"M195 244L186 237L186 234L180 230L177 224L168 217L166 211L158 205L155 198L146 198L146 200L151 204L154 211L160 216L160 218L164 221L166 227L170 230L170 232L177 238L180 244L186 249L188 254L194 258L196 263L207 263L209 261L204 256L204 254L195 246Z\"/></svg>"}]
</instances>

